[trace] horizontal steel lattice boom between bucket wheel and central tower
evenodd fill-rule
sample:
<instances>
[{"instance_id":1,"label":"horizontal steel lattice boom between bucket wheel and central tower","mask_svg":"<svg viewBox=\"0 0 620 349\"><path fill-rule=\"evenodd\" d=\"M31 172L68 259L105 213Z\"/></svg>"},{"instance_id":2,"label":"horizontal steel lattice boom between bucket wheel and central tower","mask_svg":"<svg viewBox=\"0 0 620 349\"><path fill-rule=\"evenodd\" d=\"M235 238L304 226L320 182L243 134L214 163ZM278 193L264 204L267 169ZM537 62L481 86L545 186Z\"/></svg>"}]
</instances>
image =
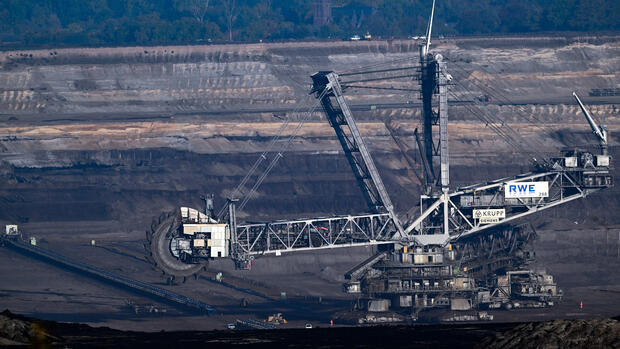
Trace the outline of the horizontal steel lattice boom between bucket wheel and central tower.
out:
<instances>
[{"instance_id":1,"label":"horizontal steel lattice boom between bucket wheel and central tower","mask_svg":"<svg viewBox=\"0 0 620 349\"><path fill-rule=\"evenodd\" d=\"M233 240L247 255L393 243L388 213L238 225Z\"/></svg>"}]
</instances>

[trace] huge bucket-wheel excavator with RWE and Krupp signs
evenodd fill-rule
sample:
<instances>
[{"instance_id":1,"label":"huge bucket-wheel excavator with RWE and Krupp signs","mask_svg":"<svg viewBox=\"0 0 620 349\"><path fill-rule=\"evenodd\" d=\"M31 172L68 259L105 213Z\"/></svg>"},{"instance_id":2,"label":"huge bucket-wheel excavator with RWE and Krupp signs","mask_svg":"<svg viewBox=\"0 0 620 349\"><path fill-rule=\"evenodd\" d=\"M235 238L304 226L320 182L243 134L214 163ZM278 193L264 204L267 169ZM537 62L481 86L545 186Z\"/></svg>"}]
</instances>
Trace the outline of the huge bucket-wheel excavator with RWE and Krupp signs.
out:
<instances>
[{"instance_id":1,"label":"huge bucket-wheel excavator with RWE and Krupp signs","mask_svg":"<svg viewBox=\"0 0 620 349\"><path fill-rule=\"evenodd\" d=\"M527 268L533 258L530 246L536 232L526 219L613 185L607 131L596 123L575 94L601 142L600 153L573 150L545 158L532 150L531 172L451 187L448 94L454 82L447 72L447 60L430 52L434 6L433 1L425 42L420 46L419 65L340 75L322 71L312 75L314 105L299 118L292 135L278 143L288 125L286 119L218 214L213 210L212 198L205 198L203 211L181 207L154 222L147 232L146 244L153 263L170 279L184 280L204 269L212 258L232 258L238 268L250 269L259 255L377 245L376 255L345 275L345 290L363 294L368 299L368 310L390 307L417 312L434 307L467 310L553 304L561 296L553 278ZM423 194L419 214L408 221L397 216L344 98L344 89L379 80L344 80L362 73L396 74L383 77L386 79L416 76L420 81L423 129L420 134L416 130L415 135L423 169L418 178ZM342 146L368 212L265 223L237 222L237 210L245 207L303 122L319 106ZM524 147L518 133L503 121L489 115L480 118L509 144ZM251 190L242 199L236 197L276 147L278 150L273 151L275 155L272 154ZM403 149L400 145L399 148Z\"/></svg>"}]
</instances>

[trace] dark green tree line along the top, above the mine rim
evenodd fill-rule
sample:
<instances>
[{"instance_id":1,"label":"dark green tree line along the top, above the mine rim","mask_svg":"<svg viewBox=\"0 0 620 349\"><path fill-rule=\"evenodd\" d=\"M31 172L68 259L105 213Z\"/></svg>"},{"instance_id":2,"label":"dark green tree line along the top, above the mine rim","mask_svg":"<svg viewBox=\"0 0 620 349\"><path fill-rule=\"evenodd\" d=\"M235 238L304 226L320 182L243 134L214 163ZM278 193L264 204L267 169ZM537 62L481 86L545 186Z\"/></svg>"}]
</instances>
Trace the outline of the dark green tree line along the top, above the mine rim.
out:
<instances>
[{"instance_id":1,"label":"dark green tree line along the top, above the mine rim","mask_svg":"<svg viewBox=\"0 0 620 349\"><path fill-rule=\"evenodd\" d=\"M424 33L431 0L2 0L0 45L152 45ZM433 33L616 31L618 0L440 0Z\"/></svg>"}]
</instances>

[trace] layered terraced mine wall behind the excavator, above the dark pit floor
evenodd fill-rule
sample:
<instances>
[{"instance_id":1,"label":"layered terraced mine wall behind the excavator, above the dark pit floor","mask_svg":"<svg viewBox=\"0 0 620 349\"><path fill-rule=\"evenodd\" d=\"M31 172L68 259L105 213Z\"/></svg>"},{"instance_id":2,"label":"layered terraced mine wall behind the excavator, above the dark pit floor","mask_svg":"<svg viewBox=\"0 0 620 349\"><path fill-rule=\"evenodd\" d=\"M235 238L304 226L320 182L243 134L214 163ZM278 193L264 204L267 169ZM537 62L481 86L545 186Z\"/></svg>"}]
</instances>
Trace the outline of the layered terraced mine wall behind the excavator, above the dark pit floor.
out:
<instances>
[{"instance_id":1,"label":"layered terraced mine wall behind the excavator, above the dark pit floor","mask_svg":"<svg viewBox=\"0 0 620 349\"><path fill-rule=\"evenodd\" d=\"M617 156L620 41L604 37L449 39L434 42L471 102L486 86L507 98L482 106L536 150L555 154L596 140L570 96L577 90L608 125ZM308 42L225 46L50 49L0 53L0 220L37 231L142 236L162 210L216 204L250 169L281 125L315 102L309 75L415 66L414 41ZM411 73L415 73L415 68ZM373 86L415 89L414 78ZM463 86L469 90L465 90ZM360 129L402 216L417 203L419 181L385 122L417 156L417 92L348 89ZM526 118L524 118L524 115ZM530 118L529 120L527 118ZM453 183L482 182L528 170L467 105L450 109ZM529 121L536 120L536 123ZM620 224L617 189L558 209L553 224L596 212ZM240 216L264 220L366 210L324 117L315 112L290 151ZM564 223L562 223L564 221ZM559 223L558 223L559 222ZM590 221L592 222L592 221ZM548 222L548 224L551 224ZM595 224L595 223L591 223Z\"/></svg>"}]
</instances>

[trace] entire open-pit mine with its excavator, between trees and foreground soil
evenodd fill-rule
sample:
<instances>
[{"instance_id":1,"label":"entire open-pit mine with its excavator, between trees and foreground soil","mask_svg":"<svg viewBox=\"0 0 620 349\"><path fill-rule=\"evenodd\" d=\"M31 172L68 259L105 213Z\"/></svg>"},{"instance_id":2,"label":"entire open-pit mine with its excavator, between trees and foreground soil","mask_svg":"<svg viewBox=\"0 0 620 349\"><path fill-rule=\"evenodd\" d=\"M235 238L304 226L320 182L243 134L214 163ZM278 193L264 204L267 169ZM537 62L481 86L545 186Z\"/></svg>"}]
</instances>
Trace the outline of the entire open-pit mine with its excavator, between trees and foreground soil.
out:
<instances>
[{"instance_id":1,"label":"entire open-pit mine with its excavator, between trees and foreground soil","mask_svg":"<svg viewBox=\"0 0 620 349\"><path fill-rule=\"evenodd\" d=\"M1 51L0 223L36 247L0 250L0 304L149 331L617 315L619 71L614 35Z\"/></svg>"}]
</instances>

